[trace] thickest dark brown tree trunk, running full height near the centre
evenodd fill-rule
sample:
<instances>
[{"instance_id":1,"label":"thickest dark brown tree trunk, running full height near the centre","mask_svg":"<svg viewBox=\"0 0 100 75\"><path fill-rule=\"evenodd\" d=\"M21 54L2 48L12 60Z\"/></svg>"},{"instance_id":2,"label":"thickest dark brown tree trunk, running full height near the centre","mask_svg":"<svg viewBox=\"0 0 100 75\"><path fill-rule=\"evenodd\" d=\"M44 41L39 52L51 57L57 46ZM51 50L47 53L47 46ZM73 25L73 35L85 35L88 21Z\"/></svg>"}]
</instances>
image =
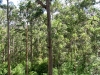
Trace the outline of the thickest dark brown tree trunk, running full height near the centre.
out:
<instances>
[{"instance_id":1,"label":"thickest dark brown tree trunk, running full height near the centre","mask_svg":"<svg viewBox=\"0 0 100 75\"><path fill-rule=\"evenodd\" d=\"M48 75L52 75L52 44L51 44L51 15L50 15L50 0L46 0L47 9L47 31L48 31Z\"/></svg>"}]
</instances>

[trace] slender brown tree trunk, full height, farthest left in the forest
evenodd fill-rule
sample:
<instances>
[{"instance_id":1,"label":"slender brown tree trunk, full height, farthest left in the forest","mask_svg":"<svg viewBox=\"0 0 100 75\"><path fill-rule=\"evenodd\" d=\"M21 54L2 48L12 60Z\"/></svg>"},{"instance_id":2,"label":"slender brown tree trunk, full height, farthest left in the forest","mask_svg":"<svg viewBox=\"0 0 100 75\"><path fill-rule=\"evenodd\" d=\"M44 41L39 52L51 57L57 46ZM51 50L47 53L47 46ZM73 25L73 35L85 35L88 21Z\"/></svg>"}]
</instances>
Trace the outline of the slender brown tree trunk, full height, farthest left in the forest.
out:
<instances>
[{"instance_id":1,"label":"slender brown tree trunk, full height, farthest left in the forest","mask_svg":"<svg viewBox=\"0 0 100 75\"><path fill-rule=\"evenodd\" d=\"M9 0L7 0L7 49L8 49L8 75L11 75L11 72L10 72Z\"/></svg>"}]
</instances>

